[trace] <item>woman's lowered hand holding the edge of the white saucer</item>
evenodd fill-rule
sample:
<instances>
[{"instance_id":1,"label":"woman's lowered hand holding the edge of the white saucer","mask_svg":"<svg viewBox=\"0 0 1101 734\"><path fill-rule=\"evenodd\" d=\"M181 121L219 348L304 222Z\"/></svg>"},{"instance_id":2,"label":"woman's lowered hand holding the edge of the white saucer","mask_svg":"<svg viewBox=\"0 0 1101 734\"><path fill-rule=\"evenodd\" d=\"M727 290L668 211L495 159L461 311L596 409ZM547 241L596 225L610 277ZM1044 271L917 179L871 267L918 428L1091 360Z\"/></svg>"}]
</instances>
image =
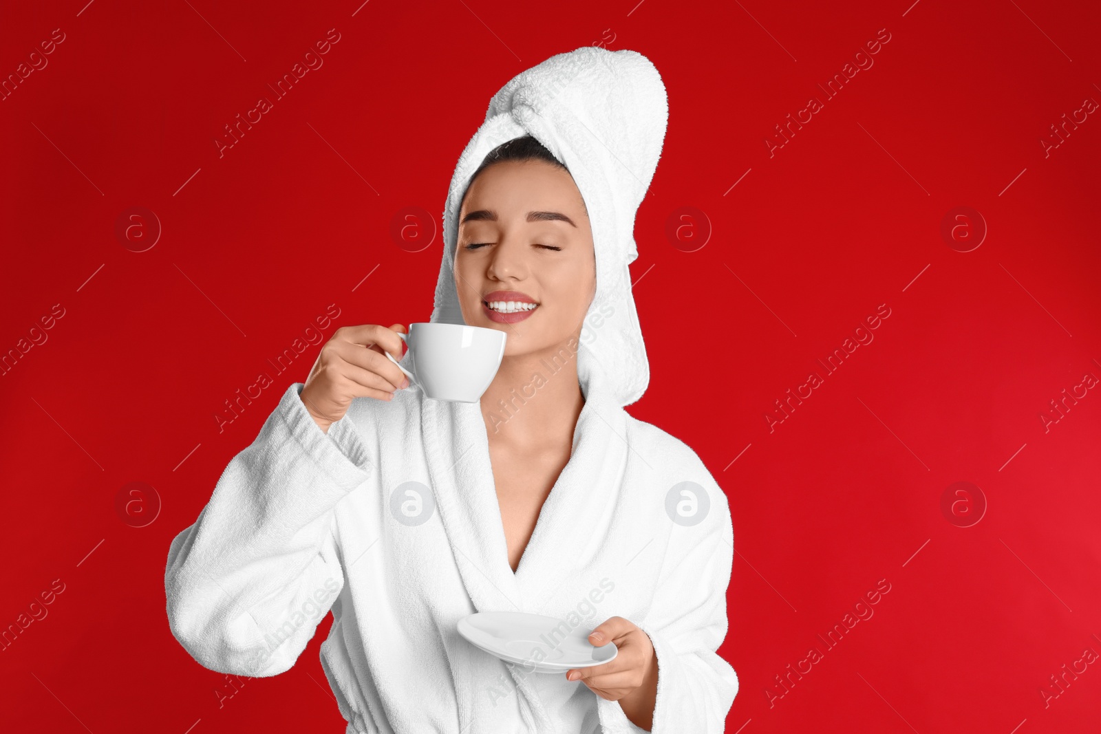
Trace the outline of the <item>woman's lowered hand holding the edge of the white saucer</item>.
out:
<instances>
[{"instance_id":1,"label":"woman's lowered hand holding the edge of the white saucer","mask_svg":"<svg viewBox=\"0 0 1101 734\"><path fill-rule=\"evenodd\" d=\"M657 698L657 656L650 635L613 616L592 631L589 642L597 647L615 643L619 654L603 665L568 670L566 678L580 680L603 699L619 701L632 723L650 730Z\"/></svg>"}]
</instances>

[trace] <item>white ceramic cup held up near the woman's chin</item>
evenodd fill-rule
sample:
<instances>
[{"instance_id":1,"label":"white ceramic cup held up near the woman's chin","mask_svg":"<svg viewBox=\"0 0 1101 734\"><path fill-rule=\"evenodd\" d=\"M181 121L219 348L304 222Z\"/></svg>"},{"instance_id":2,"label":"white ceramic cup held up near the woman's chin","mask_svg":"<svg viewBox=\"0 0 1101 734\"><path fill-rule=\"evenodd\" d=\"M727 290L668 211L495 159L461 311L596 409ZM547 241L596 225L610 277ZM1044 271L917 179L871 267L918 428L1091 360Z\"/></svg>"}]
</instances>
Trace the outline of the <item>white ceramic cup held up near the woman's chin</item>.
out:
<instances>
[{"instance_id":1,"label":"white ceramic cup held up near the woman's chin","mask_svg":"<svg viewBox=\"0 0 1101 734\"><path fill-rule=\"evenodd\" d=\"M386 359L417 385L427 397L455 403L477 403L493 382L509 335L465 324L410 324L408 335L400 333L408 347L413 371Z\"/></svg>"}]
</instances>

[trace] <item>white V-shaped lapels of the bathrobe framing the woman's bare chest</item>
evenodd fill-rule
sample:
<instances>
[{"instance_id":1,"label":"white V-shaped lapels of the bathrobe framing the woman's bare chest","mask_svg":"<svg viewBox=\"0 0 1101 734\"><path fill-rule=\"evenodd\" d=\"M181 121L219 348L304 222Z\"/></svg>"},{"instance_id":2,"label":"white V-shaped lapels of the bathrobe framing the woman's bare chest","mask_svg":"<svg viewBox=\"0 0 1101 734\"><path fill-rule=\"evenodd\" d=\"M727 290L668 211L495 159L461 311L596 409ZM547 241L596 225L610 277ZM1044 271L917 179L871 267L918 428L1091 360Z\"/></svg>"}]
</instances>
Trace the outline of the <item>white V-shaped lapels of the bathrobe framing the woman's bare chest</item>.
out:
<instances>
[{"instance_id":1,"label":"white V-shaped lapels of the bathrobe framing the woman's bare chest","mask_svg":"<svg viewBox=\"0 0 1101 734\"><path fill-rule=\"evenodd\" d=\"M599 393L587 397L569 462L513 573L480 405L421 403L432 490L475 607L552 613L555 592L601 550L630 452L626 414Z\"/></svg>"}]
</instances>

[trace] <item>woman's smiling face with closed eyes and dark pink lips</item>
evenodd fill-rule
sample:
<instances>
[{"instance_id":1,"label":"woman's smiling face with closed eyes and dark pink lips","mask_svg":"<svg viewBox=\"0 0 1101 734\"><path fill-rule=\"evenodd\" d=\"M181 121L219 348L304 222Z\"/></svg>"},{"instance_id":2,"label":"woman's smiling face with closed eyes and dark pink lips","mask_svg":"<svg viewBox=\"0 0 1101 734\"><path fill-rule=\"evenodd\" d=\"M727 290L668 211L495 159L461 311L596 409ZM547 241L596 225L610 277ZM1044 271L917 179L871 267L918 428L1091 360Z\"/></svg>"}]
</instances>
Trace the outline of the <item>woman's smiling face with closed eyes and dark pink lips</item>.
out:
<instances>
[{"instance_id":1,"label":"woman's smiling face with closed eyes and dark pink lips","mask_svg":"<svg viewBox=\"0 0 1101 734\"><path fill-rule=\"evenodd\" d=\"M505 331L506 357L558 348L580 333L596 287L592 229L573 176L543 161L482 169L459 210L464 320Z\"/></svg>"}]
</instances>

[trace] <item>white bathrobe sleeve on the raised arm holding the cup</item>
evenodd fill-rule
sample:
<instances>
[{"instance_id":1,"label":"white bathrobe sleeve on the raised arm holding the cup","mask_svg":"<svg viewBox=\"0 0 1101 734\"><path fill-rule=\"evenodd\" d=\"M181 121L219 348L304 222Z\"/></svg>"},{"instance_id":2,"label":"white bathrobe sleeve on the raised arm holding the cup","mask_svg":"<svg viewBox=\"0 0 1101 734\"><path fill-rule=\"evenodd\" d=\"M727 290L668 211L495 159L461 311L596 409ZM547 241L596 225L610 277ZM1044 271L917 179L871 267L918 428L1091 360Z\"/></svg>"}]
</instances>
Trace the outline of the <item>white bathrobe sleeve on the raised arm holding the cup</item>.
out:
<instances>
[{"instance_id":1,"label":"white bathrobe sleeve on the raised arm holding the cup","mask_svg":"<svg viewBox=\"0 0 1101 734\"><path fill-rule=\"evenodd\" d=\"M318 427L303 387L287 388L168 550L172 634L218 672L290 669L344 588L334 507L371 461L347 414L328 435Z\"/></svg>"}]
</instances>

